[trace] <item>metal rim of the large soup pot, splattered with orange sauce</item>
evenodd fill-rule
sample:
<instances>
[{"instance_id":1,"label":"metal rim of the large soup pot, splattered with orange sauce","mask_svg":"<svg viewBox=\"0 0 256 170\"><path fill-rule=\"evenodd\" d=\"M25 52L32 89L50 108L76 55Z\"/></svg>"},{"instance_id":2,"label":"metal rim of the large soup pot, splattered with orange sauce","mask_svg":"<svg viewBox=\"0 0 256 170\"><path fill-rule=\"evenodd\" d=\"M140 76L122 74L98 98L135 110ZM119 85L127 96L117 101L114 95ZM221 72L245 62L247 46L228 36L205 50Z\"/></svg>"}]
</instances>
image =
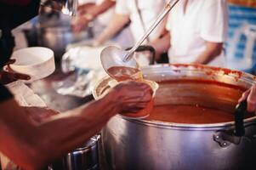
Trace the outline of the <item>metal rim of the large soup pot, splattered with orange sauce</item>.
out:
<instances>
[{"instance_id":1,"label":"metal rim of the large soup pot, splattered with orange sauce","mask_svg":"<svg viewBox=\"0 0 256 170\"><path fill-rule=\"evenodd\" d=\"M226 68L221 67L215 67L215 66L208 66L208 65L187 65L187 64L161 64L161 65L150 65L150 66L144 66L140 67L141 70L145 69L151 69L151 68L163 68L163 67L170 67L172 71L214 71L214 74L218 75L227 75L230 77L236 77L236 78L243 78L246 79L247 82L250 82L252 85L256 83L256 77L248 74L246 72L242 71L234 71ZM96 88L102 83L103 81L109 79L110 77L104 77L101 79L100 82L97 82L93 88L93 96L94 99L100 99L103 96L98 96L96 93ZM111 79L111 78L110 78ZM134 120L134 119L128 119L125 117L122 117L120 115L116 115L114 117L118 117L121 119L124 119L129 122L135 122L147 126L153 126L153 127L166 127L166 128L181 128L181 129L197 129L197 130L211 130L213 128L218 127L234 127L235 122L219 122L219 123L204 123L204 124L191 124L191 123L176 123L176 122L160 122L160 121L148 121L148 120ZM247 119L244 119L244 125L249 126L256 122L256 116L249 117Z\"/></svg>"}]
</instances>

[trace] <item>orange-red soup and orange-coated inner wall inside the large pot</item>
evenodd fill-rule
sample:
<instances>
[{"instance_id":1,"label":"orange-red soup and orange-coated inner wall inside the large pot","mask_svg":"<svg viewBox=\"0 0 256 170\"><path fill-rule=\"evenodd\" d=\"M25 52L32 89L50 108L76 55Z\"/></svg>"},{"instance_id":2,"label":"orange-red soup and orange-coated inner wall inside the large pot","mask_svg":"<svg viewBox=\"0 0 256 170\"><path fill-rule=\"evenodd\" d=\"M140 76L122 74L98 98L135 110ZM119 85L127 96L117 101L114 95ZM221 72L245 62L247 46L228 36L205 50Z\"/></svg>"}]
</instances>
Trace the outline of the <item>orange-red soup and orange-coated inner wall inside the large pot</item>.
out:
<instances>
[{"instance_id":1,"label":"orange-red soup and orange-coated inner wall inside the large pot","mask_svg":"<svg viewBox=\"0 0 256 170\"><path fill-rule=\"evenodd\" d=\"M156 103L160 105L155 105L150 116L146 118L150 121L190 124L233 122L237 100L247 89L200 79L167 80L158 83L160 88L156 94ZM252 116L253 114L247 114L245 118Z\"/></svg>"}]
</instances>

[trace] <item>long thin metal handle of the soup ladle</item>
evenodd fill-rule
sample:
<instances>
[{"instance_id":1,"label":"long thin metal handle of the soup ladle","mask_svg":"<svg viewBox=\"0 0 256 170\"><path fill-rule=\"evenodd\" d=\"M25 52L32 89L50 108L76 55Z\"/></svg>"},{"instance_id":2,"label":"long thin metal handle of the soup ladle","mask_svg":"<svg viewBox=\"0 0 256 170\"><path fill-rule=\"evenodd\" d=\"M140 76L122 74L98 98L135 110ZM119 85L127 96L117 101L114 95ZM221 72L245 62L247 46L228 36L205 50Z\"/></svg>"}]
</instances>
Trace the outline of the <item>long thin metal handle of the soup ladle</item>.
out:
<instances>
[{"instance_id":1,"label":"long thin metal handle of the soup ladle","mask_svg":"<svg viewBox=\"0 0 256 170\"><path fill-rule=\"evenodd\" d=\"M124 62L128 61L129 59L131 59L131 57L133 56L132 54L134 54L134 51L139 48L139 46L142 44L142 42L145 41L145 39L147 37L149 37L149 35L151 34L152 31L155 30L156 26L159 25L159 23L163 20L163 18L168 14L168 12L174 8L174 6L179 2L179 0L171 0L163 9L162 13L158 15L156 21L153 23L153 25L145 32L145 35L143 37L141 37L141 39L139 40L139 42L137 42L133 48L131 48L128 51L128 54L125 56L125 58L123 59Z\"/></svg>"}]
</instances>

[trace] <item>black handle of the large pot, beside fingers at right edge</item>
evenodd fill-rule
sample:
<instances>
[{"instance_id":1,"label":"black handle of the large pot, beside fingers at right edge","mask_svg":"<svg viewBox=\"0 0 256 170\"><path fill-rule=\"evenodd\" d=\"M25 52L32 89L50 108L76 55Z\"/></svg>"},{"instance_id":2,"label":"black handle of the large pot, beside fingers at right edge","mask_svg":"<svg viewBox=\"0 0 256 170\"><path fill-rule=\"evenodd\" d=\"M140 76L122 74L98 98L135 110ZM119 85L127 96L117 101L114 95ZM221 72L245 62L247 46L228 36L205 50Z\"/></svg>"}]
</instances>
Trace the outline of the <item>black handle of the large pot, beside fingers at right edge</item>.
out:
<instances>
[{"instance_id":1,"label":"black handle of the large pot, beside fingers at right edge","mask_svg":"<svg viewBox=\"0 0 256 170\"><path fill-rule=\"evenodd\" d=\"M236 105L235 111L235 135L237 137L242 137L245 133L245 129L243 126L243 116L247 111L247 100L243 100L240 104Z\"/></svg>"}]
</instances>

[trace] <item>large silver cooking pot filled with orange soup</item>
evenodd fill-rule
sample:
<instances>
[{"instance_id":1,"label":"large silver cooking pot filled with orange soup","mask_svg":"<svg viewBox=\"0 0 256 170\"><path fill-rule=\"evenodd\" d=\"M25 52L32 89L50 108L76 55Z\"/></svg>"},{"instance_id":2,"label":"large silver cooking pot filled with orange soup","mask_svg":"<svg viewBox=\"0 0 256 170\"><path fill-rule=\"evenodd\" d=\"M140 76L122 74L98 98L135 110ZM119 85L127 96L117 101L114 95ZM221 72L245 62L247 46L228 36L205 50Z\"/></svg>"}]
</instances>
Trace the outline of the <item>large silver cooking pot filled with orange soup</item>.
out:
<instances>
[{"instance_id":1,"label":"large silver cooking pot filled with orange soup","mask_svg":"<svg viewBox=\"0 0 256 170\"><path fill-rule=\"evenodd\" d=\"M239 71L202 65L152 65L142 69L145 78L206 80L250 88L255 77ZM98 99L109 88L105 78L94 88ZM178 81L179 82L179 81ZM155 105L195 105L234 111L242 94L207 85L173 84L156 92ZM255 116L244 120L245 135L234 136L234 122L182 124L128 120L114 116L102 130L105 157L113 169L255 169Z\"/></svg>"}]
</instances>

